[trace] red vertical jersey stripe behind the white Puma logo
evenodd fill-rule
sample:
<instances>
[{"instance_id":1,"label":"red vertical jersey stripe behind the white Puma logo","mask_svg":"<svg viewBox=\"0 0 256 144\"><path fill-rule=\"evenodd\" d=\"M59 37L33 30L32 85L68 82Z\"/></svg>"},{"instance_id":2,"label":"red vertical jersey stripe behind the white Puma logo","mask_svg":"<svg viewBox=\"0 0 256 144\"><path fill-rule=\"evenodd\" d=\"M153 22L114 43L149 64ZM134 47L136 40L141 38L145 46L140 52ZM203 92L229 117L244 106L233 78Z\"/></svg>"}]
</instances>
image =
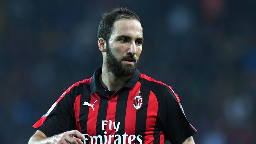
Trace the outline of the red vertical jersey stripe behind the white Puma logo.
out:
<instances>
[{"instance_id":1,"label":"red vertical jersey stripe behind the white Puma logo","mask_svg":"<svg viewBox=\"0 0 256 144\"><path fill-rule=\"evenodd\" d=\"M88 120L87 133L89 135L96 135L96 123L97 123L97 116L98 116L98 111L99 111L99 102L100 102L100 96L97 93L91 94L90 104L93 106L94 110L93 110L92 106L88 106L89 113L88 113L88 118L87 118L87 120ZM84 105L84 106L87 106L87 105Z\"/></svg>"}]
</instances>

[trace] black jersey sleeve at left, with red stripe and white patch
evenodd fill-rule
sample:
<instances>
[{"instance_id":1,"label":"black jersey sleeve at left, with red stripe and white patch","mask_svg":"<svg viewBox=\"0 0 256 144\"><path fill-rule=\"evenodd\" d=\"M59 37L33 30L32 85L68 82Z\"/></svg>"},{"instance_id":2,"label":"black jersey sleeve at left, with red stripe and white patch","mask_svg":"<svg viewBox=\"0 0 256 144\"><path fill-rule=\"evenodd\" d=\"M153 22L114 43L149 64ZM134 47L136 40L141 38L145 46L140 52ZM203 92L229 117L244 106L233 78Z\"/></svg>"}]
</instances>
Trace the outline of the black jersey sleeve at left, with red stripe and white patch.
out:
<instances>
[{"instance_id":1,"label":"black jersey sleeve at left, with red stripe and white patch","mask_svg":"<svg viewBox=\"0 0 256 144\"><path fill-rule=\"evenodd\" d=\"M33 127L47 137L75 129L72 111L75 90L76 87L67 89Z\"/></svg>"}]
</instances>

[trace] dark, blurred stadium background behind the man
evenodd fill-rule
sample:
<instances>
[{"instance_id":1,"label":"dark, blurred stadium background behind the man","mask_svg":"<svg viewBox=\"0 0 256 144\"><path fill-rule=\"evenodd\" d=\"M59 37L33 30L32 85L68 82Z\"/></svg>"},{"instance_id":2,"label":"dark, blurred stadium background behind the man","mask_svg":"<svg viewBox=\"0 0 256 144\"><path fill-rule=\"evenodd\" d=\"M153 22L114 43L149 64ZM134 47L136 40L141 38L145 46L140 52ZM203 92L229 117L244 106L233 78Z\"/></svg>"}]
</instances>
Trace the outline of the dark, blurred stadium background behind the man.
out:
<instances>
[{"instance_id":1,"label":"dark, blurred stadium background behind the man","mask_svg":"<svg viewBox=\"0 0 256 144\"><path fill-rule=\"evenodd\" d=\"M97 28L115 7L136 12L139 70L179 95L196 144L256 143L256 1L0 0L1 143L32 125L102 65Z\"/></svg>"}]
</instances>

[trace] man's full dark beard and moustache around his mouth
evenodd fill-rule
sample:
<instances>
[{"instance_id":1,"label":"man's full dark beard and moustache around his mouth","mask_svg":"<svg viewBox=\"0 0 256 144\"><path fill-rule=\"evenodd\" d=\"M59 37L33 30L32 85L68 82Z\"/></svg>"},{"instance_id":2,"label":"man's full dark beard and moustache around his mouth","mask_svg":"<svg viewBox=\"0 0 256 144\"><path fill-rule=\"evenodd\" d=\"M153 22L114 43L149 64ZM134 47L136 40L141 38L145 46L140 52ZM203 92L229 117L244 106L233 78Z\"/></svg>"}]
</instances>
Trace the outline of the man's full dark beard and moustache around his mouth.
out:
<instances>
[{"instance_id":1,"label":"man's full dark beard and moustache around his mouth","mask_svg":"<svg viewBox=\"0 0 256 144\"><path fill-rule=\"evenodd\" d=\"M134 55L129 53L126 57L122 57L121 60L119 61L115 56L112 54L109 44L106 44L107 49L106 49L106 54L107 54L107 70L113 73L115 76L124 76L128 77L134 74L138 67L138 60L135 59ZM122 65L122 60L123 59L134 59L135 64L125 64Z\"/></svg>"}]
</instances>

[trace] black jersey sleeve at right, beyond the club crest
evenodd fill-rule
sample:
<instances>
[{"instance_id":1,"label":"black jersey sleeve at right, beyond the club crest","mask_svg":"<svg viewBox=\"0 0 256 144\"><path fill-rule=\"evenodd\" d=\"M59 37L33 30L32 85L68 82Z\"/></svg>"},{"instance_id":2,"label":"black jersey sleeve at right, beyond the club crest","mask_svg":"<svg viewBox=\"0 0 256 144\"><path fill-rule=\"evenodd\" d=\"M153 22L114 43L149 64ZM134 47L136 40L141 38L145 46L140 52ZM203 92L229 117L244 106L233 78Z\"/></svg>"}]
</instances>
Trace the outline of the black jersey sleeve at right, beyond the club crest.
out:
<instances>
[{"instance_id":1,"label":"black jersey sleeve at right, beyond the club crest","mask_svg":"<svg viewBox=\"0 0 256 144\"><path fill-rule=\"evenodd\" d=\"M182 144L188 137L196 133L189 123L177 94L170 88L166 98L166 139L172 144Z\"/></svg>"}]
</instances>

